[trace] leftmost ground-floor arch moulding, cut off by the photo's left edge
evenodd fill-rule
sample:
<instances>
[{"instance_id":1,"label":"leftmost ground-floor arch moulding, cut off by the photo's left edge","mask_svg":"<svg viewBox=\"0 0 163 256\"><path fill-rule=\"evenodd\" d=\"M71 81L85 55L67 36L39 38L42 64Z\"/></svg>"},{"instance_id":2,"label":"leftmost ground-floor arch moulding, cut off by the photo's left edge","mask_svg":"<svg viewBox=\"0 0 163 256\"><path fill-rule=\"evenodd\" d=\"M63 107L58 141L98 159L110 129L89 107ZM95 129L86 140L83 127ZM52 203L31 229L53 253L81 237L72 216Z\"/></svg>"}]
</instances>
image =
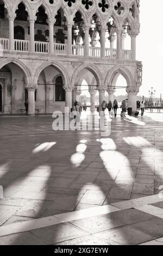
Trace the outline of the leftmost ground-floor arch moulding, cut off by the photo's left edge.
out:
<instances>
[{"instance_id":1,"label":"leftmost ground-floor arch moulding, cut off by the photo's left edge","mask_svg":"<svg viewBox=\"0 0 163 256\"><path fill-rule=\"evenodd\" d=\"M4 59L1 63L0 63L0 70L3 68L3 66L9 64L9 63L15 63L16 65L18 65L24 72L24 74L26 75L26 80L27 80L27 84L33 84L32 82L32 75L30 73L30 70L27 68L27 66L21 62L20 60L16 59L16 58L8 58L8 59Z\"/></svg>"}]
</instances>

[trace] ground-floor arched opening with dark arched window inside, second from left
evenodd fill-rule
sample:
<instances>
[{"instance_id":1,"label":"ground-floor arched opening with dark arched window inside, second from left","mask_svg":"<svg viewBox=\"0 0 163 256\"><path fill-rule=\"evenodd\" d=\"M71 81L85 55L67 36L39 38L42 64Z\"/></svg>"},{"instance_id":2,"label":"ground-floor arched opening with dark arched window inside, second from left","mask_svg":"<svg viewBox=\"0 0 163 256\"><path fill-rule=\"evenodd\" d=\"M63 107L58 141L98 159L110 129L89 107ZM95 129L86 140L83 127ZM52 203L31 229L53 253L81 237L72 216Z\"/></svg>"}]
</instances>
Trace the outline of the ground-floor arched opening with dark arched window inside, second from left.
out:
<instances>
[{"instance_id":1,"label":"ground-floor arched opening with dark arched window inside, second from left","mask_svg":"<svg viewBox=\"0 0 163 256\"><path fill-rule=\"evenodd\" d=\"M61 70L54 65L44 68L37 81L35 107L40 113L64 112L65 108L65 77Z\"/></svg>"}]
</instances>

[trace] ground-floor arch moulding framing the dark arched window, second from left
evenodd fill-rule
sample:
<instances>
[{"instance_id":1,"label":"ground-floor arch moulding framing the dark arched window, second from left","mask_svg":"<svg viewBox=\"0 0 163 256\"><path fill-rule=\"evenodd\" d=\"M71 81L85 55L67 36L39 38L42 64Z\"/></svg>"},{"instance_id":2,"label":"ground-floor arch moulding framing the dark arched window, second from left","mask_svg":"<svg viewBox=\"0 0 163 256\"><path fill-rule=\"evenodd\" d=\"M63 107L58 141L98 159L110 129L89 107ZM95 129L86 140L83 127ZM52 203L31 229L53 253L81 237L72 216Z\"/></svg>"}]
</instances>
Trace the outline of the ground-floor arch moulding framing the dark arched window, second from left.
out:
<instances>
[{"instance_id":1,"label":"ground-floor arch moulding framing the dark arched window, second from left","mask_svg":"<svg viewBox=\"0 0 163 256\"><path fill-rule=\"evenodd\" d=\"M59 72L61 72L62 75L62 80L65 85L70 85L70 81L68 78L68 74L64 66L62 66L60 63L55 62L54 60L49 60L47 62L44 62L39 68L36 70L35 75L34 75L34 83L37 84L37 81L39 79L40 73L42 72L43 69L47 68L48 66L54 66Z\"/></svg>"}]
</instances>

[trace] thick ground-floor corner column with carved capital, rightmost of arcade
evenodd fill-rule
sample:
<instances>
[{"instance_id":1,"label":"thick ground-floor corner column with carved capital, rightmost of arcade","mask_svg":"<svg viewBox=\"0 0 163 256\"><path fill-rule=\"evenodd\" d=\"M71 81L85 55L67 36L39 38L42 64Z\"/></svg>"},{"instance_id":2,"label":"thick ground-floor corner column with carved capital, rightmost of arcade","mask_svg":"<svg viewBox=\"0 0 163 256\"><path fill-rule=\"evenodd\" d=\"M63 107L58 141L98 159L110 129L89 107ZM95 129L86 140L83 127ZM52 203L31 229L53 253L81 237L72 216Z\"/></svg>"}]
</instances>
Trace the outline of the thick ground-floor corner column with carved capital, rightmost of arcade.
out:
<instances>
[{"instance_id":1,"label":"thick ground-floor corner column with carved capital, rightmost of arcade","mask_svg":"<svg viewBox=\"0 0 163 256\"><path fill-rule=\"evenodd\" d=\"M136 100L137 100L137 93L139 93L138 87L128 87L126 89L128 93L128 107L132 108L132 113L136 111Z\"/></svg>"}]
</instances>

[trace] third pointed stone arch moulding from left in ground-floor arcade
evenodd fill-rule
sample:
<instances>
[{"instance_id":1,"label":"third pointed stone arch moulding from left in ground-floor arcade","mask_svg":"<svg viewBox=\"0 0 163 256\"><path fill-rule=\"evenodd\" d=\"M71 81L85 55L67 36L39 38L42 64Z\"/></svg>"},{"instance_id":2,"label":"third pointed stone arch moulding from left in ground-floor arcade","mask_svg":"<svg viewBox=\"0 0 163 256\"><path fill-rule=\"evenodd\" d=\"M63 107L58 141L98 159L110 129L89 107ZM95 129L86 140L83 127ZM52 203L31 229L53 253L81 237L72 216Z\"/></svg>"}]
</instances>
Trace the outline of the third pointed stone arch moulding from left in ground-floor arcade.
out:
<instances>
[{"instance_id":1,"label":"third pointed stone arch moulding from left in ground-floor arcade","mask_svg":"<svg viewBox=\"0 0 163 256\"><path fill-rule=\"evenodd\" d=\"M77 75L83 69L89 70L95 76L96 81L97 81L97 86L99 86L99 87L103 86L103 77L102 77L101 72L95 65L89 64L89 63L84 63L83 65L78 66L78 68L74 71L72 78L71 78L72 86L74 86L74 84L75 84Z\"/></svg>"}]
</instances>

